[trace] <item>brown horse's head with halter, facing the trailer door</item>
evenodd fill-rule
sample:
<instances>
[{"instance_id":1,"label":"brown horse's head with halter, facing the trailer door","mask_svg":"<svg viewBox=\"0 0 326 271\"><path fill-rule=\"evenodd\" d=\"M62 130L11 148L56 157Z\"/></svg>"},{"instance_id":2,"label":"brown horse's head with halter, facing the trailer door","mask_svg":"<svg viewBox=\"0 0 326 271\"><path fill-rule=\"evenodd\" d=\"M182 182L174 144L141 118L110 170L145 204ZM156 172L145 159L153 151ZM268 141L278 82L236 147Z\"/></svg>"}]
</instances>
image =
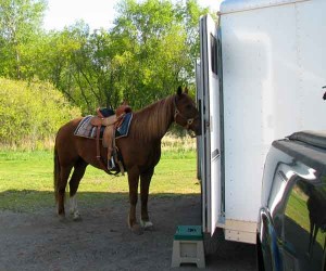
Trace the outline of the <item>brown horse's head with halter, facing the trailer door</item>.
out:
<instances>
[{"instance_id":1,"label":"brown horse's head with halter, facing the trailer door","mask_svg":"<svg viewBox=\"0 0 326 271\"><path fill-rule=\"evenodd\" d=\"M201 134L200 115L193 100L188 95L188 89L178 87L174 100L174 121L179 126L191 130L196 136Z\"/></svg>"}]
</instances>

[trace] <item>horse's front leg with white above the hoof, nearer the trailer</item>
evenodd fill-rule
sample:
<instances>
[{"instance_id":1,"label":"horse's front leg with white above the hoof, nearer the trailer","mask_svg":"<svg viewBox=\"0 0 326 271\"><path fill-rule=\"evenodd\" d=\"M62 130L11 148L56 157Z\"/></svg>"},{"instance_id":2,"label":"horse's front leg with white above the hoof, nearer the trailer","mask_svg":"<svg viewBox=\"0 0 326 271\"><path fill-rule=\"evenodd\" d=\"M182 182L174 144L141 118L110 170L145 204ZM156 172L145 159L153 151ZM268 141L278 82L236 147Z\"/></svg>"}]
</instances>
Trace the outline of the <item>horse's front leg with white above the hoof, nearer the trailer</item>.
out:
<instances>
[{"instance_id":1,"label":"horse's front leg with white above the hoof, nearer the trailer","mask_svg":"<svg viewBox=\"0 0 326 271\"><path fill-rule=\"evenodd\" d=\"M148 215L148 194L149 194L149 186L153 173L154 173L154 169L151 168L150 170L142 172L140 175L140 198L141 198L140 224L145 230L151 230L153 228L153 223L150 221Z\"/></svg>"}]
</instances>

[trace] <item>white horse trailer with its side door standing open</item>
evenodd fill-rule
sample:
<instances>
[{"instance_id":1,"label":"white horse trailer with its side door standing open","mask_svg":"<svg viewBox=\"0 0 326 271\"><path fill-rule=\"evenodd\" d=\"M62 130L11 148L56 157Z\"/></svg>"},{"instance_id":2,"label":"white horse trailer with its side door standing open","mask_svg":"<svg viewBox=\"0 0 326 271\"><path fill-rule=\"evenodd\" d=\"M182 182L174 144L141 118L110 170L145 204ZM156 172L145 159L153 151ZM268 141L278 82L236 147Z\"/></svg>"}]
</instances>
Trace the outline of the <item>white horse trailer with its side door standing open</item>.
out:
<instances>
[{"instance_id":1,"label":"white horse trailer with its side door standing open","mask_svg":"<svg viewBox=\"0 0 326 271\"><path fill-rule=\"evenodd\" d=\"M226 0L200 20L202 223L256 242L271 143L326 128L326 1Z\"/></svg>"}]
</instances>

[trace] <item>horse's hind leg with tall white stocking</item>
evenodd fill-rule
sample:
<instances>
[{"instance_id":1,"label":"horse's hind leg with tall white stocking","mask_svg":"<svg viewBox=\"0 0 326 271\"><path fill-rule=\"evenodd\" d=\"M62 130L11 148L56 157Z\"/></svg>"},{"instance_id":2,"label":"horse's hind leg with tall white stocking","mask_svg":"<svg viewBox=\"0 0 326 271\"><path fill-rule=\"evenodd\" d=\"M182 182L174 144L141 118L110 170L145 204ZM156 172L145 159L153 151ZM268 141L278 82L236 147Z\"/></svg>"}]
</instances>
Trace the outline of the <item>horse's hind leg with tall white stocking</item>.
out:
<instances>
[{"instance_id":1,"label":"horse's hind leg with tall white stocking","mask_svg":"<svg viewBox=\"0 0 326 271\"><path fill-rule=\"evenodd\" d=\"M79 186L79 182L82 178L84 177L86 167L88 164L86 164L82 158L77 160L74 165L74 172L70 180L70 205L71 205L71 215L73 216L73 219L75 221L80 220L80 214L77 209L77 199L76 199L76 193Z\"/></svg>"}]
</instances>

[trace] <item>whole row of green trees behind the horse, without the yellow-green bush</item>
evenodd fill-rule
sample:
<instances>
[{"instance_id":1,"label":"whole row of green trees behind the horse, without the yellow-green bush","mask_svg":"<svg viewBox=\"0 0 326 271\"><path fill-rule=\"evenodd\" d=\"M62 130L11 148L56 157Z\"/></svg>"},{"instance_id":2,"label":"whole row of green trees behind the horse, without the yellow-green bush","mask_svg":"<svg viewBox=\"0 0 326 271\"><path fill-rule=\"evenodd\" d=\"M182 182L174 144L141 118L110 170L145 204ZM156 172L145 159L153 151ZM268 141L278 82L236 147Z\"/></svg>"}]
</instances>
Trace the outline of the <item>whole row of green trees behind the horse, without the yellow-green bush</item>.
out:
<instances>
[{"instance_id":1,"label":"whole row of green trees behind the horse, without the yellow-green bush","mask_svg":"<svg viewBox=\"0 0 326 271\"><path fill-rule=\"evenodd\" d=\"M114 27L90 33L80 21L45 33L45 0L0 0L0 76L51 81L84 114L124 100L135 108L193 86L197 0L121 0Z\"/></svg>"}]
</instances>

